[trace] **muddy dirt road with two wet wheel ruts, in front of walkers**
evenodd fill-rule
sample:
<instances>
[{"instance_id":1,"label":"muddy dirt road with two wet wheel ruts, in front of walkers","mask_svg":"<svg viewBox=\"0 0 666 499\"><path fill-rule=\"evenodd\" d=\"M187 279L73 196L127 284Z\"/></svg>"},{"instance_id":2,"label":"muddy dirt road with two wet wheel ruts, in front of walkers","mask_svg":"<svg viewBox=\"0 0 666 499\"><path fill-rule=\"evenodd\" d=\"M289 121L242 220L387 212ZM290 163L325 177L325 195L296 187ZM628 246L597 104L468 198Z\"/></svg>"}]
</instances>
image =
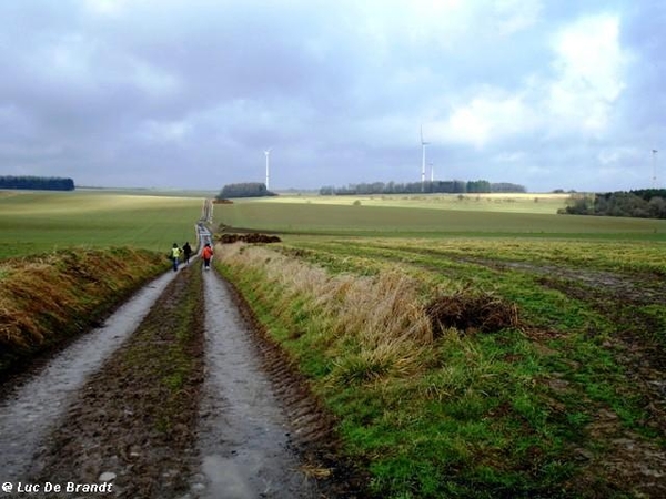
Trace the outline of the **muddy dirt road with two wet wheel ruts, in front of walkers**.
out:
<instances>
[{"instance_id":1,"label":"muddy dirt road with two wet wheel ruts, in front of walkers","mask_svg":"<svg viewBox=\"0 0 666 499\"><path fill-rule=\"evenodd\" d=\"M234 296L193 262L7 390L4 497L360 497Z\"/></svg>"}]
</instances>

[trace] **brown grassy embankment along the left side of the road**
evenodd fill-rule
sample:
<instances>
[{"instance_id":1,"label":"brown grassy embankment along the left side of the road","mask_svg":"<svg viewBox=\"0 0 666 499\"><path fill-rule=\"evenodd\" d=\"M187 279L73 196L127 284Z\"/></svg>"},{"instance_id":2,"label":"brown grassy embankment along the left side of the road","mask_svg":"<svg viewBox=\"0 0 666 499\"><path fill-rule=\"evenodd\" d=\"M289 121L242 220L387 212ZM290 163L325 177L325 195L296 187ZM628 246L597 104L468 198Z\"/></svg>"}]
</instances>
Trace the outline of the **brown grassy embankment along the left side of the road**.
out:
<instances>
[{"instance_id":1,"label":"brown grassy embankment along the left side of the road","mask_svg":"<svg viewBox=\"0 0 666 499\"><path fill-rule=\"evenodd\" d=\"M168 268L161 253L70 248L0 262L0 373L101 320Z\"/></svg>"}]
</instances>

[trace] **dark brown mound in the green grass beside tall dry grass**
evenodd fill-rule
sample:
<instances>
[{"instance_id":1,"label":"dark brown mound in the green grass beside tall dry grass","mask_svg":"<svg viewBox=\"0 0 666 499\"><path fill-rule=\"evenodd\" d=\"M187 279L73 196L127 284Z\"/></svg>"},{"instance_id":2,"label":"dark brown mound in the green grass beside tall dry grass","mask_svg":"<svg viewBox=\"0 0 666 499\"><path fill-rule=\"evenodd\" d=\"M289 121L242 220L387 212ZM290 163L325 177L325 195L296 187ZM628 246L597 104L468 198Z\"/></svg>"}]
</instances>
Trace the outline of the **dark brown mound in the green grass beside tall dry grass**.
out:
<instances>
[{"instance_id":1,"label":"dark brown mound in the green grass beside tall dry grass","mask_svg":"<svg viewBox=\"0 0 666 499\"><path fill-rule=\"evenodd\" d=\"M451 327L465 333L493 333L519 325L515 304L483 292L438 296L425 307L425 313L435 338Z\"/></svg>"}]
</instances>

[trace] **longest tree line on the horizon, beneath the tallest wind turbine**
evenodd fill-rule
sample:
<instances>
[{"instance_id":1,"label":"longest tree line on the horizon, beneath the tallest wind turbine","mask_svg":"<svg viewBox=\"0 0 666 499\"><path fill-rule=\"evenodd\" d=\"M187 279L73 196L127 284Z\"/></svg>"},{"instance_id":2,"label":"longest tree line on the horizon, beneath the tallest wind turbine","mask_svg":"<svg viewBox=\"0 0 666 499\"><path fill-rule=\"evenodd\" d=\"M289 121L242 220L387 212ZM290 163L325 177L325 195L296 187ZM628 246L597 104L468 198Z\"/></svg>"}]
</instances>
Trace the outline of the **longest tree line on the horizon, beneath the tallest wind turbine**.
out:
<instances>
[{"instance_id":1,"label":"longest tree line on the horizon, beneath the tallest wind turbine","mask_svg":"<svg viewBox=\"0 0 666 499\"><path fill-rule=\"evenodd\" d=\"M491 183L478 181L427 181L427 182L372 182L349 184L344 187L326 185L320 189L321 195L360 195L360 194L477 194L491 192L526 192L523 185L508 182Z\"/></svg>"}]
</instances>

